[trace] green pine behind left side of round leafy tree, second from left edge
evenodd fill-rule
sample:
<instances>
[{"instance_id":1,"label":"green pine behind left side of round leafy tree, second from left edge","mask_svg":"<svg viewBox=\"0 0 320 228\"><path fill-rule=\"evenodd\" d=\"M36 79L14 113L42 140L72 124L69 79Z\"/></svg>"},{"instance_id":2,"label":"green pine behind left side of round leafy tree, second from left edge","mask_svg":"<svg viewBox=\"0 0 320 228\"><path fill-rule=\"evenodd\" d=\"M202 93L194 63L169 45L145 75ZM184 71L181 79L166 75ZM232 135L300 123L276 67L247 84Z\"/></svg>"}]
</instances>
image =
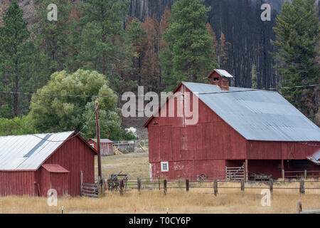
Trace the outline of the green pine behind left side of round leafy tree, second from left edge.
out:
<instances>
[{"instance_id":1,"label":"green pine behind left side of round leafy tree, second from left edge","mask_svg":"<svg viewBox=\"0 0 320 228\"><path fill-rule=\"evenodd\" d=\"M49 4L55 4L58 7L57 21L48 20ZM33 26L33 33L36 36L36 48L41 56L41 69L43 76L46 76L46 81L50 80L51 74L55 71L64 70L75 54L73 36L71 36L75 25L69 19L70 10L69 1L41 0L38 2L36 14L38 23Z\"/></svg>"}]
</instances>

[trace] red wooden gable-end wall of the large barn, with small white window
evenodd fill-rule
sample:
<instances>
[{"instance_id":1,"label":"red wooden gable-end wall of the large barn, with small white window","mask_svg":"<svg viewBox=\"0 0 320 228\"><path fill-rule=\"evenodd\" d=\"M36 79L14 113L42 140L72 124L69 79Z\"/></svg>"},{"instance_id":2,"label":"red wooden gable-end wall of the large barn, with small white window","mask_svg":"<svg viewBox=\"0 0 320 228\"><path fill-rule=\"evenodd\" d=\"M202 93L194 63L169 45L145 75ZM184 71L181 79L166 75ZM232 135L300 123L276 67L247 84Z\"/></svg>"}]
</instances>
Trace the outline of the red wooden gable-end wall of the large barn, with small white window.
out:
<instances>
[{"instance_id":1,"label":"red wooden gable-end wall of the large barn, with small white window","mask_svg":"<svg viewBox=\"0 0 320 228\"><path fill-rule=\"evenodd\" d=\"M183 89L186 88L180 91ZM148 125L149 162L152 164L153 177L182 177L202 173L220 175L225 170L223 159L245 159L246 140L242 135L201 100L198 104L198 123L183 125L183 118L177 117L178 100L179 97L175 98L175 117L161 117L159 113L160 117L153 118ZM168 104L166 110L168 116ZM169 172L161 173L160 162L164 161L169 162ZM182 170L174 170L176 162L181 163Z\"/></svg>"}]
</instances>

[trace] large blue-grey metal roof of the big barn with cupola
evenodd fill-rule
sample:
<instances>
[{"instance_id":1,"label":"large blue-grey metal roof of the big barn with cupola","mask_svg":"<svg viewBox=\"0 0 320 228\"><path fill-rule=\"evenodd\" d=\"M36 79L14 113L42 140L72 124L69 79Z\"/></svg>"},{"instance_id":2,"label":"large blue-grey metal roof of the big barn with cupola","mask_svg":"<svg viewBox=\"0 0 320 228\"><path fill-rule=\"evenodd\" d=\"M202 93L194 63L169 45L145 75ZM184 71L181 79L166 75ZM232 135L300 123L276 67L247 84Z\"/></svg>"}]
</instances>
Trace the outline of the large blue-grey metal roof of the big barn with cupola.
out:
<instances>
[{"instance_id":1,"label":"large blue-grey metal roof of the big barn with cupola","mask_svg":"<svg viewBox=\"0 0 320 228\"><path fill-rule=\"evenodd\" d=\"M183 82L247 140L320 141L320 129L277 92ZM202 94L208 93L208 94Z\"/></svg>"}]
</instances>

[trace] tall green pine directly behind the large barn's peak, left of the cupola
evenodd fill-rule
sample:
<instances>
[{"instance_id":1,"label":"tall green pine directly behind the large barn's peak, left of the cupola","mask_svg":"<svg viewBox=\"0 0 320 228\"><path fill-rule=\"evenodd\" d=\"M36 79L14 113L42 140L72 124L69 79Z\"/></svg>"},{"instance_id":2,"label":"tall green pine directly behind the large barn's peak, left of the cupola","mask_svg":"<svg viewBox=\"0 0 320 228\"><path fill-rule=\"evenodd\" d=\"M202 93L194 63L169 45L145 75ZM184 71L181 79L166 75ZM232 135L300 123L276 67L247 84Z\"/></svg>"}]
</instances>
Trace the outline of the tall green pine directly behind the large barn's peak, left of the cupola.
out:
<instances>
[{"instance_id":1,"label":"tall green pine directly behind the large barn's peak, left of the cupola","mask_svg":"<svg viewBox=\"0 0 320 228\"><path fill-rule=\"evenodd\" d=\"M181 81L205 82L216 67L212 37L206 28L210 7L203 2L179 0L172 6L169 28L164 33L169 49L160 56L166 90L172 90Z\"/></svg>"}]
</instances>

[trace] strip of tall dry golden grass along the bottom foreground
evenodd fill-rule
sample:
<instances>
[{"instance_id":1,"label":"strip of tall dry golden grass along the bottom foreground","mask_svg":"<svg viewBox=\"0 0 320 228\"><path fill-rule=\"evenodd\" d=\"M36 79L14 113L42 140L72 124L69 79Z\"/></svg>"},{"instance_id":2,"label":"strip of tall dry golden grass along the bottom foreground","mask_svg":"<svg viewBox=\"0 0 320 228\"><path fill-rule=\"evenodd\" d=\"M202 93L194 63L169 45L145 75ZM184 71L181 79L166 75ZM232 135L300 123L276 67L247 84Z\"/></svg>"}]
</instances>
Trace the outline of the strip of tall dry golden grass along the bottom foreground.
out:
<instances>
[{"instance_id":1,"label":"strip of tall dry golden grass along the bottom foreground","mask_svg":"<svg viewBox=\"0 0 320 228\"><path fill-rule=\"evenodd\" d=\"M229 190L229 189L228 189ZM208 189L130 190L123 196L107 192L104 197L63 197L57 207L49 207L46 198L0 197L0 213L297 213L297 202L304 210L320 209L320 195L275 193L271 207L262 207L260 192L224 192L215 197Z\"/></svg>"}]
</instances>

